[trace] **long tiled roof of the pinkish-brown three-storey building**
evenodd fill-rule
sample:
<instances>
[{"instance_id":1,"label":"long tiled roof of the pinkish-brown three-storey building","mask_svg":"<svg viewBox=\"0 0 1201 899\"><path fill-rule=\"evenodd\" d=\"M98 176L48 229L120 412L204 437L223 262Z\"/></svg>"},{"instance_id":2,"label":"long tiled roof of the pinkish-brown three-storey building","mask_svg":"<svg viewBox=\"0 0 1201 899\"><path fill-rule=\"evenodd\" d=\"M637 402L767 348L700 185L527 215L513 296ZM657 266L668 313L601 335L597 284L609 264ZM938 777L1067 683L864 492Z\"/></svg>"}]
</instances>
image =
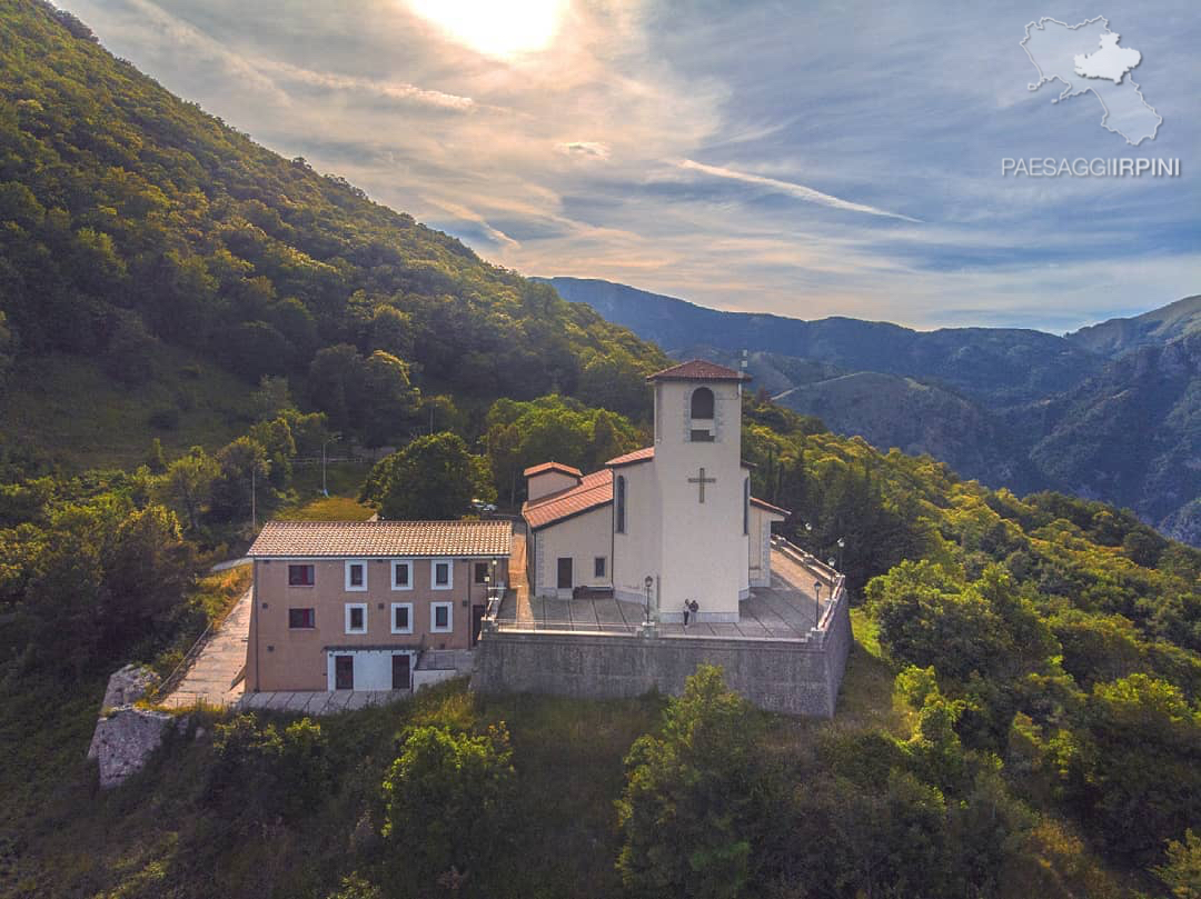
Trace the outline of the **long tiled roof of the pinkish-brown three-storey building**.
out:
<instances>
[{"instance_id":1,"label":"long tiled roof of the pinkish-brown three-storey building","mask_svg":"<svg viewBox=\"0 0 1201 899\"><path fill-rule=\"evenodd\" d=\"M508 556L507 521L269 521L247 556Z\"/></svg>"}]
</instances>

